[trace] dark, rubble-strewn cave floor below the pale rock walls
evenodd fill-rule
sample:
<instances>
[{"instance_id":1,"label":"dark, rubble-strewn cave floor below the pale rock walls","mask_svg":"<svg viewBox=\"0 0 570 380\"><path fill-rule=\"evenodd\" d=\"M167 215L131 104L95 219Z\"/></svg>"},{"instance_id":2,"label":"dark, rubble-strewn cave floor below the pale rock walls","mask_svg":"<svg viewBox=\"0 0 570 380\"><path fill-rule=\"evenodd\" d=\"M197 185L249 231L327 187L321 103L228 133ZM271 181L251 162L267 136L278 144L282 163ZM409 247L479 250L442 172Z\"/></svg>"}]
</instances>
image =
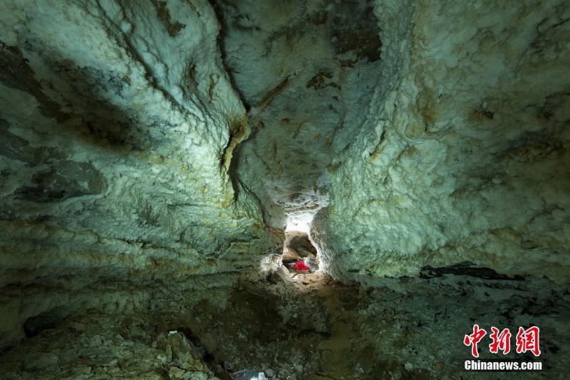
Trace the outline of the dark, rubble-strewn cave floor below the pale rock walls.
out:
<instances>
[{"instance_id":1,"label":"dark, rubble-strewn cave floor below the pale rock walls","mask_svg":"<svg viewBox=\"0 0 570 380\"><path fill-rule=\"evenodd\" d=\"M559 379L570 365L569 311L568 292L546 279L402 278L365 287L323 273L298 274L292 282L238 282L222 301L185 302L182 294L152 312L93 310L69 317L5 351L0 374L2 379L249 380L260 372L282 380ZM487 331L540 327L544 371L463 371L470 349L462 340L474 323ZM487 344L480 344L482 358L502 357L490 354ZM535 360L529 353L506 357Z\"/></svg>"}]
</instances>

